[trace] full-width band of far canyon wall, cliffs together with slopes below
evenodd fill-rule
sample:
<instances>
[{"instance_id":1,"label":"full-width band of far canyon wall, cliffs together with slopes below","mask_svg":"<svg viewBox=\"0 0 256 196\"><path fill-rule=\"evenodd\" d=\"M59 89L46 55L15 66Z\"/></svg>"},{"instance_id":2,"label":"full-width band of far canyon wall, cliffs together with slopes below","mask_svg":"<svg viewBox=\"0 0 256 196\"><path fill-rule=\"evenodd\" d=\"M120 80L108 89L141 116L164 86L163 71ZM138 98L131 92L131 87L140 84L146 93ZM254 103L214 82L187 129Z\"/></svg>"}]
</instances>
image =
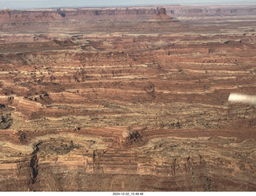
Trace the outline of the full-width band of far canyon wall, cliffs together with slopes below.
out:
<instances>
[{"instance_id":1,"label":"full-width band of far canyon wall, cliffs together with slopes below","mask_svg":"<svg viewBox=\"0 0 256 196\"><path fill-rule=\"evenodd\" d=\"M159 16L161 9L164 11ZM0 10L2 32L182 32L188 23L216 28L222 21L254 22L256 6L130 6ZM176 22L185 25L178 26ZM205 22L205 23L204 23ZM171 23L171 24L170 24ZM202 27L203 25L203 27ZM210 30L213 30L210 27ZM249 30L250 31L250 30Z\"/></svg>"}]
</instances>

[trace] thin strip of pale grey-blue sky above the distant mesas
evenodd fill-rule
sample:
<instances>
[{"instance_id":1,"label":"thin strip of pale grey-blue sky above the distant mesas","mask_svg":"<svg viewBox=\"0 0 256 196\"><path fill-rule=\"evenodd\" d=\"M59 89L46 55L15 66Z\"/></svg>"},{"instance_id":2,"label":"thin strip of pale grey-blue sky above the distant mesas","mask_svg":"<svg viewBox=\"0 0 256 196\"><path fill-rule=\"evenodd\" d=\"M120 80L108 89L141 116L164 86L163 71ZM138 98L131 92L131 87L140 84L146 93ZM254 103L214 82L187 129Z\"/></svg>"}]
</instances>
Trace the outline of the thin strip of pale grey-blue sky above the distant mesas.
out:
<instances>
[{"instance_id":1,"label":"thin strip of pale grey-blue sky above the distant mesas","mask_svg":"<svg viewBox=\"0 0 256 196\"><path fill-rule=\"evenodd\" d=\"M0 0L0 10L10 9L49 8L49 7L86 7L86 6L136 6L161 4L221 4L248 3L256 0Z\"/></svg>"}]
</instances>

